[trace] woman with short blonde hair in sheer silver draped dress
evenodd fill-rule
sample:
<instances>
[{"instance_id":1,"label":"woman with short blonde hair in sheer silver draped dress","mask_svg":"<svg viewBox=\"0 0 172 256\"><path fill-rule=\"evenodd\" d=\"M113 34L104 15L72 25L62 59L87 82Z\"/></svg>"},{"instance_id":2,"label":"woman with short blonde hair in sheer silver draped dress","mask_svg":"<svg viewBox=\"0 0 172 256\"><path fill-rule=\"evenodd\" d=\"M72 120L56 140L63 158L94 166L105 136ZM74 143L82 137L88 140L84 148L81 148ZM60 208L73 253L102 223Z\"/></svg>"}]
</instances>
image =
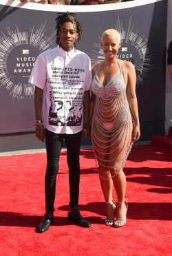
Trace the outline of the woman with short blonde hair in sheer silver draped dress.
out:
<instances>
[{"instance_id":1,"label":"woman with short blonde hair in sheer silver draped dress","mask_svg":"<svg viewBox=\"0 0 172 256\"><path fill-rule=\"evenodd\" d=\"M140 137L136 72L132 63L116 57L121 46L120 34L116 30L105 31L101 45L105 61L92 67L92 145L107 203L105 224L119 227L126 224L128 208L125 200L126 178L122 169L132 143ZM118 198L115 222L113 183Z\"/></svg>"}]
</instances>

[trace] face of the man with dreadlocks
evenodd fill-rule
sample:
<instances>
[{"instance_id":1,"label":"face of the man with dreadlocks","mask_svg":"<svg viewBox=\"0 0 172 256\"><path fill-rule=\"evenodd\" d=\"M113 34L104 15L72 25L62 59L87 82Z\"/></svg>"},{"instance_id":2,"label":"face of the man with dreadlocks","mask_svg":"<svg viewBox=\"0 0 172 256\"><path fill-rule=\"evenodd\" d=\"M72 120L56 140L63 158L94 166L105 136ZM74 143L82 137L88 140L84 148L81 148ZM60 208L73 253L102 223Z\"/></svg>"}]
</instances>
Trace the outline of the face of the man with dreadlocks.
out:
<instances>
[{"instance_id":1,"label":"face of the man with dreadlocks","mask_svg":"<svg viewBox=\"0 0 172 256\"><path fill-rule=\"evenodd\" d=\"M72 22L63 23L61 25L59 37L61 39L62 47L71 47L74 44L74 41L78 38L78 33L76 32L76 25L74 25Z\"/></svg>"}]
</instances>

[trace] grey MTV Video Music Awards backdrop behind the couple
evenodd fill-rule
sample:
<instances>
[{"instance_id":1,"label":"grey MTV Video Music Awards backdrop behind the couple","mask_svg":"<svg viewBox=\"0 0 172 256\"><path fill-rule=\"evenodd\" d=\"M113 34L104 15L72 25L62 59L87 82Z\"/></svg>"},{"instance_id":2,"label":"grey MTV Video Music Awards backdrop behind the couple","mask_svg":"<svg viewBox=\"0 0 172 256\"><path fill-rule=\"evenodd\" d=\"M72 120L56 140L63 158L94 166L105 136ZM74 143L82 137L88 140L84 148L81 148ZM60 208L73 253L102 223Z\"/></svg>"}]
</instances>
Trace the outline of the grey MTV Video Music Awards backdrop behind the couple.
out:
<instances>
[{"instance_id":1,"label":"grey MTV Video Music Awards backdrop behind the couple","mask_svg":"<svg viewBox=\"0 0 172 256\"><path fill-rule=\"evenodd\" d=\"M77 49L93 63L103 61L101 35L121 34L118 58L136 69L142 139L164 133L167 1L136 0L100 6L52 6L1 0L0 132L34 128L34 85L28 83L36 57L56 47L56 12L77 14L83 28ZM155 124L155 125L153 125ZM159 124L159 125L157 125Z\"/></svg>"}]
</instances>

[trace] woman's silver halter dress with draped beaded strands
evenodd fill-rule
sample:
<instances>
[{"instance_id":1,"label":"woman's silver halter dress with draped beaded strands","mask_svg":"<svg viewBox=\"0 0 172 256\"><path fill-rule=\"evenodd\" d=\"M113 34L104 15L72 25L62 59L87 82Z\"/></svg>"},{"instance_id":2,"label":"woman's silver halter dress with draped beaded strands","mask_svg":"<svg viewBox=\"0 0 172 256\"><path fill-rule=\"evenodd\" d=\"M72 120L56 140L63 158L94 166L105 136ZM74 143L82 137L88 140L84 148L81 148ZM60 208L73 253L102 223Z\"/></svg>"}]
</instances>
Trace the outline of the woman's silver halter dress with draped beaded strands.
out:
<instances>
[{"instance_id":1,"label":"woman's silver halter dress with draped beaded strands","mask_svg":"<svg viewBox=\"0 0 172 256\"><path fill-rule=\"evenodd\" d=\"M102 64L100 63L98 70ZM98 78L98 70L92 81L92 92L96 95L96 103L91 136L96 167L97 170L98 165L105 170L111 169L110 178L123 169L133 144L134 120L129 108L126 96L127 86L119 61L118 67L120 74L112 78L105 87Z\"/></svg>"}]
</instances>

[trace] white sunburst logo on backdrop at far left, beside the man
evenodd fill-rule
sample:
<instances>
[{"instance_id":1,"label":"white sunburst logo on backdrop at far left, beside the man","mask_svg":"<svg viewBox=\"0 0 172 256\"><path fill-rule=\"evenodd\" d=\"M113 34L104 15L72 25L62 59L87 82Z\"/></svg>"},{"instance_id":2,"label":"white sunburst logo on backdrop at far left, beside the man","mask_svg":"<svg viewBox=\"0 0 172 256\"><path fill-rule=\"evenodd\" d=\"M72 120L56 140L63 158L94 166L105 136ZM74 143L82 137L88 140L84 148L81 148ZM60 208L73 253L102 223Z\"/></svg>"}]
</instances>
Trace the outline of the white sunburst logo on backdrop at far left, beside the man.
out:
<instances>
[{"instance_id":1,"label":"white sunburst logo on backdrop at far left, beside the man","mask_svg":"<svg viewBox=\"0 0 172 256\"><path fill-rule=\"evenodd\" d=\"M46 23L46 21L45 21ZM34 54L39 55L41 52L45 50L52 49L53 47L56 47L55 41L55 34L54 32L51 36L45 35L45 23L41 24L40 28L30 28L27 32L20 32L19 28L14 30L10 30L9 27L6 28L7 34L3 33L1 31L0 34L0 86L5 86L6 89L10 92L10 96L12 96L12 100L17 98L18 102L19 100L25 98L25 96L30 96L30 98L33 98L34 96L34 86L28 83L28 78L30 74L20 74L21 80L23 79L23 83L20 80L20 76L18 75L19 81L16 83L14 81L14 72L18 72L17 68L13 68L13 72L11 72L9 65L11 65L11 60L9 60L9 56L12 54L14 55L15 51L17 50L17 47L19 45L23 45L23 52L25 55L28 56L29 50L30 52L33 52ZM18 48L19 49L19 48ZM29 49L29 50L28 50ZM28 51L28 52L27 52ZM11 54L12 52L12 54ZM33 59L36 59L36 56L32 57ZM19 58L18 58L19 59ZM20 60L22 57L20 56ZM30 63L28 63L29 65ZM34 65L34 63L32 63ZM17 63L17 67L21 67L21 65L24 65L23 63ZM23 66L22 66L23 67ZM24 70L24 69L23 69ZM25 69L25 73L27 73ZM31 69L30 69L31 70ZM32 71L32 70L31 70ZM19 69L19 72L22 72L22 69Z\"/></svg>"}]
</instances>

